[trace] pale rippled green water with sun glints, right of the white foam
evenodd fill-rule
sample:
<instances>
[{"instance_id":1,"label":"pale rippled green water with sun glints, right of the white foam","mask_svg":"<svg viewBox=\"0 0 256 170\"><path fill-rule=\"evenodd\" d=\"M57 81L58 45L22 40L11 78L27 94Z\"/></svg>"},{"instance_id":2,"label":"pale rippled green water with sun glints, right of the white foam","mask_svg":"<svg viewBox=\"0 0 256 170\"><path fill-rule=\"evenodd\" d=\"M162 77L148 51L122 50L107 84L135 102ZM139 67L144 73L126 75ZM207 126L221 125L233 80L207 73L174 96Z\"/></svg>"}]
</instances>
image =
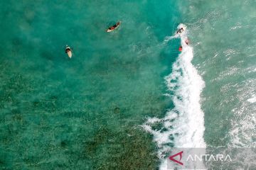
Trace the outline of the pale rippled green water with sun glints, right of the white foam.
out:
<instances>
[{"instance_id":1,"label":"pale rippled green water with sun glints, right of the white foam","mask_svg":"<svg viewBox=\"0 0 256 170\"><path fill-rule=\"evenodd\" d=\"M209 146L255 147L255 1L184 6L202 95ZM187 16L193 16L187 17Z\"/></svg>"}]
</instances>

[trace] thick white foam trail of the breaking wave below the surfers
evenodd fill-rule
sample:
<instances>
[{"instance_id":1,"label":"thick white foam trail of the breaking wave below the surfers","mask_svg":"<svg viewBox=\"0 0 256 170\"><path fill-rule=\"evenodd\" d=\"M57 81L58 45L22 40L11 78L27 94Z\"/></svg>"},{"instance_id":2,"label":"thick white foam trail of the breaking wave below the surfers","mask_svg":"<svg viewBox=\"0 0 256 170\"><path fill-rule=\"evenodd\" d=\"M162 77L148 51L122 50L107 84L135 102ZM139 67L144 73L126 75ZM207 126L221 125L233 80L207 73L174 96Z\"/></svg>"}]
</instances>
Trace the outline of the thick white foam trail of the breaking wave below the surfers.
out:
<instances>
[{"instance_id":1,"label":"thick white foam trail of the breaking wave below the surfers","mask_svg":"<svg viewBox=\"0 0 256 170\"><path fill-rule=\"evenodd\" d=\"M186 28L183 24L178 28ZM204 114L201 111L200 94L205 86L203 79L191 60L193 48L186 45L187 31L181 35L167 37L166 41L173 38L181 38L183 50L172 66L172 72L165 77L166 85L171 92L174 108L168 111L164 118L149 118L142 125L147 132L154 135L161 159L160 169L166 169L166 157L171 147L206 147L203 140ZM152 128L154 123L161 123L161 129Z\"/></svg>"}]
</instances>

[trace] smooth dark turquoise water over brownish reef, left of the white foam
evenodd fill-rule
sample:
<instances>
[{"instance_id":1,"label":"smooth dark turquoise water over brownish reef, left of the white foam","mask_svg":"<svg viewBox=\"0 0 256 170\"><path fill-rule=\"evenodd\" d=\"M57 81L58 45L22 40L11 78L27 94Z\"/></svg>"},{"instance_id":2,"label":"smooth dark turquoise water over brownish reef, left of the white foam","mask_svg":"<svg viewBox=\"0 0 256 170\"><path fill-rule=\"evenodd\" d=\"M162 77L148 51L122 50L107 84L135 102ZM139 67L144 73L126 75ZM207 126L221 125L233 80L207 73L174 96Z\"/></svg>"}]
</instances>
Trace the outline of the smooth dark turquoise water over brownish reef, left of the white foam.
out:
<instances>
[{"instance_id":1,"label":"smooth dark turquoise water over brownish reef, left of the white foam","mask_svg":"<svg viewBox=\"0 0 256 170\"><path fill-rule=\"evenodd\" d=\"M1 167L154 169L154 143L139 125L171 107L162 77L174 60L154 15L165 14L146 1L1 6Z\"/></svg>"}]
</instances>

